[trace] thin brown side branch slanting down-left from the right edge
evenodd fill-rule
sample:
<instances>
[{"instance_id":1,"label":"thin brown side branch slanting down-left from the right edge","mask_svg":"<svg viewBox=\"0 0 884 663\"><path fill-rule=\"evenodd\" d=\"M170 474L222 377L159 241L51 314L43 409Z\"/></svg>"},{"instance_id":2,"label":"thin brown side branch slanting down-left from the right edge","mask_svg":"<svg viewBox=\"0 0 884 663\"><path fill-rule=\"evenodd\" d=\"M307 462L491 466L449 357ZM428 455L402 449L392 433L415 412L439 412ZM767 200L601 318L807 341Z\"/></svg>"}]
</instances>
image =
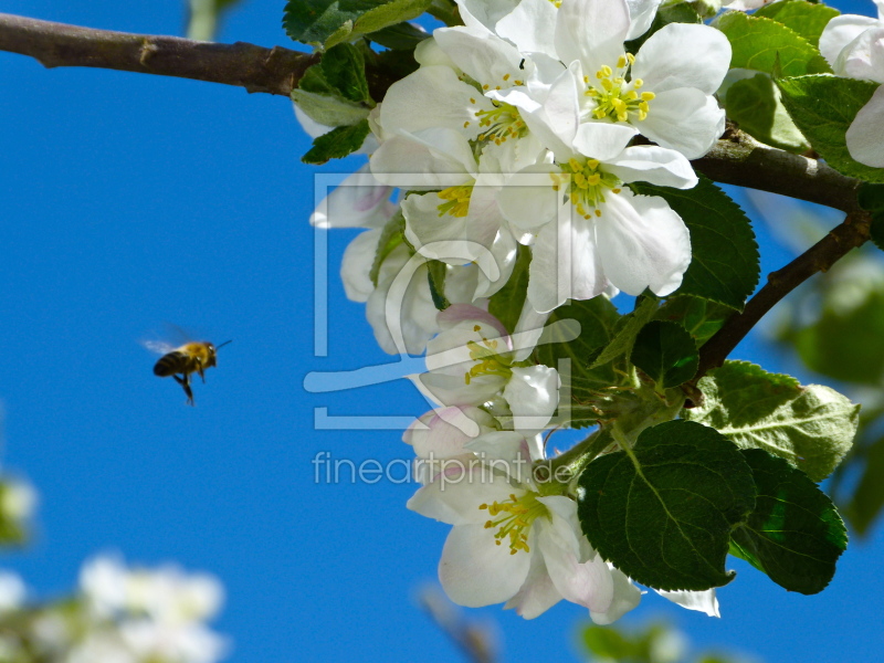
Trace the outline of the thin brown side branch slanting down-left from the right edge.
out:
<instances>
[{"instance_id":1,"label":"thin brown side branch slanting down-left from the right edge","mask_svg":"<svg viewBox=\"0 0 884 663\"><path fill-rule=\"evenodd\" d=\"M825 272L851 250L865 243L871 224L872 217L869 212L848 214L822 240L781 270L771 272L765 286L746 303L743 313L730 316L718 333L701 348L699 368L692 382L695 385L707 371L722 366L758 320L792 290L817 272Z\"/></svg>"}]
</instances>

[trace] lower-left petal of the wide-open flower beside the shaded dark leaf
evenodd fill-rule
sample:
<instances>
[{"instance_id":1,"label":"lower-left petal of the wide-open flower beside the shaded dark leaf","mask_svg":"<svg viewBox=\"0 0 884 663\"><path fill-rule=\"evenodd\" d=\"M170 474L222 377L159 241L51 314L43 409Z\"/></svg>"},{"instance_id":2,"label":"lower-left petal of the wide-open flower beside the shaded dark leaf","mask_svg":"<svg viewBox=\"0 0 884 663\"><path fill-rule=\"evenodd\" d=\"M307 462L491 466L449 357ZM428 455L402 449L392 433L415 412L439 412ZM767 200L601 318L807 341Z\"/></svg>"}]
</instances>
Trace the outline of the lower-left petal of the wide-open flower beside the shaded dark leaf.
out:
<instances>
[{"instance_id":1,"label":"lower-left petal of the wide-open flower beside the shaded dark leaf","mask_svg":"<svg viewBox=\"0 0 884 663\"><path fill-rule=\"evenodd\" d=\"M537 235L528 276L528 301L548 313L568 299L590 299L608 287L591 222L578 218L570 203Z\"/></svg>"}]
</instances>

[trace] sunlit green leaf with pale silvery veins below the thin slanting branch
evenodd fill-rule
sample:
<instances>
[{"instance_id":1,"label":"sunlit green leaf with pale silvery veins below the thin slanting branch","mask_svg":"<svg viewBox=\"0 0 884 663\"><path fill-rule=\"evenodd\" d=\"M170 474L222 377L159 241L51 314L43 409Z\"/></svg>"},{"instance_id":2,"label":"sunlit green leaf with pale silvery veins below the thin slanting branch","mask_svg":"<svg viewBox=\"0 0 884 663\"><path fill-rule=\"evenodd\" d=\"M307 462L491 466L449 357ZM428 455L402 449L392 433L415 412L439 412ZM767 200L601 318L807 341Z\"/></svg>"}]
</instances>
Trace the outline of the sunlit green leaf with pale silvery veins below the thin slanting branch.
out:
<instances>
[{"instance_id":1,"label":"sunlit green leaf with pale silvery veins below the thin slanting branch","mask_svg":"<svg viewBox=\"0 0 884 663\"><path fill-rule=\"evenodd\" d=\"M748 361L728 361L697 383L704 403L682 417L740 449L764 449L822 481L853 444L860 406L822 385L802 387Z\"/></svg>"}]
</instances>

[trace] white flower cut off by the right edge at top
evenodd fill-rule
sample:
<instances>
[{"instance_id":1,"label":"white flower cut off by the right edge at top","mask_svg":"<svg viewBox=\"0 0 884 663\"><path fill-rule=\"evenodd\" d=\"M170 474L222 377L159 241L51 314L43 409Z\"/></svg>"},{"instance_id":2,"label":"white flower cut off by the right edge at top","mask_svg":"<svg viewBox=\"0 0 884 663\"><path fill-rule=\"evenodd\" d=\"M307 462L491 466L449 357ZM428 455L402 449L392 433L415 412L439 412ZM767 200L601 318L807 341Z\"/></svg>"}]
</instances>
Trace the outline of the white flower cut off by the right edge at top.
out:
<instances>
[{"instance_id":1,"label":"white flower cut off by the right edge at top","mask_svg":"<svg viewBox=\"0 0 884 663\"><path fill-rule=\"evenodd\" d=\"M884 0L876 0L877 19L835 17L820 35L820 52L838 76L884 83ZM884 92L878 87L856 114L846 133L848 151L860 164L884 168Z\"/></svg>"}]
</instances>

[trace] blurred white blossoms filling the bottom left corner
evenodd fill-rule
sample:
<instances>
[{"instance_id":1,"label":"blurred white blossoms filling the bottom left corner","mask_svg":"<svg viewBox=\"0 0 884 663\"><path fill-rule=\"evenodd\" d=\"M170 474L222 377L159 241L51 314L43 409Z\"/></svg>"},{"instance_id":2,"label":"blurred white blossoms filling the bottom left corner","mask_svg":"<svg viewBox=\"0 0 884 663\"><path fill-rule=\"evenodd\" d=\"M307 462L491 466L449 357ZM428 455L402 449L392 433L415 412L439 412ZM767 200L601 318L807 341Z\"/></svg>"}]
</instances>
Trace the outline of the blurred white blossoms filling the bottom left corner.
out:
<instances>
[{"instance_id":1,"label":"blurred white blossoms filling the bottom left corner","mask_svg":"<svg viewBox=\"0 0 884 663\"><path fill-rule=\"evenodd\" d=\"M177 567L84 565L78 594L31 603L22 580L0 575L0 660L12 663L215 663L225 639L204 622L223 598L211 576Z\"/></svg>"}]
</instances>

